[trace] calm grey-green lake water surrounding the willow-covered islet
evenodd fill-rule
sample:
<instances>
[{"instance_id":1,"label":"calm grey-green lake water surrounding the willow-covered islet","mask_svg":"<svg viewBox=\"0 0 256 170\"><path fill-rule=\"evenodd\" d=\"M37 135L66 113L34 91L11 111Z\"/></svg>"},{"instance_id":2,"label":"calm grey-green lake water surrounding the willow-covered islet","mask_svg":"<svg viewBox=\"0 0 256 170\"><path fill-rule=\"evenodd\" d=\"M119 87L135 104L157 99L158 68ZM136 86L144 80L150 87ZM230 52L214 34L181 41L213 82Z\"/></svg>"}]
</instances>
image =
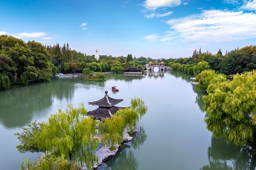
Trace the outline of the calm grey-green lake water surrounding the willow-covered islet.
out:
<instances>
[{"instance_id":1,"label":"calm grey-green lake water surrounding the willow-covered islet","mask_svg":"<svg viewBox=\"0 0 256 170\"><path fill-rule=\"evenodd\" d=\"M124 99L117 106L129 106L141 97L148 112L138 126L134 140L123 144L116 157L101 170L249 170L254 169L244 150L212 137L206 129L204 102L200 91L189 82L190 75L176 71L153 75L106 74L107 82L86 82L82 77L52 77L51 82L0 92L0 170L18 170L25 158L35 160L40 153L21 154L16 132L34 120L46 121L50 113L78 107L97 106L89 101L110 97ZM112 92L111 86L119 92ZM251 166L251 167L250 167Z\"/></svg>"}]
</instances>

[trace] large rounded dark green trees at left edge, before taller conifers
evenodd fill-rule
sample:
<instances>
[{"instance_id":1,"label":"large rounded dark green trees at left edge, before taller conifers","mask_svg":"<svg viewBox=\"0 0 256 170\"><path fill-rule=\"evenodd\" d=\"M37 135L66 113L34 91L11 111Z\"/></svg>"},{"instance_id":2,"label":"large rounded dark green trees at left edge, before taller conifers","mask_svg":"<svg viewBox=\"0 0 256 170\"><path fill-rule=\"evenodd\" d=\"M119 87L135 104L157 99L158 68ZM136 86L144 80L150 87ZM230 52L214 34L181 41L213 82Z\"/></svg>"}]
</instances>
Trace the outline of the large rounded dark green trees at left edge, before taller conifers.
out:
<instances>
[{"instance_id":1,"label":"large rounded dark green trees at left edge, before taller conifers","mask_svg":"<svg viewBox=\"0 0 256 170\"><path fill-rule=\"evenodd\" d=\"M0 36L0 75L15 77L20 85L28 80L50 80L50 54L42 44L24 41L7 35ZM13 79L13 78L12 78Z\"/></svg>"}]
</instances>

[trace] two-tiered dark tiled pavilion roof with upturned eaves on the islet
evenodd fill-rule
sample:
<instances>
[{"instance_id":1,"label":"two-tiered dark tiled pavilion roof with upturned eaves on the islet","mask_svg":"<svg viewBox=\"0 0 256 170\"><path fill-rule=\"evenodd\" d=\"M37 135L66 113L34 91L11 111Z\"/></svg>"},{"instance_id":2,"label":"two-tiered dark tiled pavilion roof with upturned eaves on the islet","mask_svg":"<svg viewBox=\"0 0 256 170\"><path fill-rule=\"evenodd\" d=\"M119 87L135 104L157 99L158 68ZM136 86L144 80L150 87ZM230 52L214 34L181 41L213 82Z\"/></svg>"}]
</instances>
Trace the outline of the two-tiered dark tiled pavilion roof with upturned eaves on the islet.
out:
<instances>
[{"instance_id":1,"label":"two-tiered dark tiled pavilion roof with upturned eaves on the islet","mask_svg":"<svg viewBox=\"0 0 256 170\"><path fill-rule=\"evenodd\" d=\"M88 111L86 115L93 116L94 119L111 118L120 108L126 108L115 106L123 101L123 99L113 99L109 97L108 91L105 91L105 96L103 98L94 102L88 102L88 104L99 106L99 108Z\"/></svg>"}]
</instances>

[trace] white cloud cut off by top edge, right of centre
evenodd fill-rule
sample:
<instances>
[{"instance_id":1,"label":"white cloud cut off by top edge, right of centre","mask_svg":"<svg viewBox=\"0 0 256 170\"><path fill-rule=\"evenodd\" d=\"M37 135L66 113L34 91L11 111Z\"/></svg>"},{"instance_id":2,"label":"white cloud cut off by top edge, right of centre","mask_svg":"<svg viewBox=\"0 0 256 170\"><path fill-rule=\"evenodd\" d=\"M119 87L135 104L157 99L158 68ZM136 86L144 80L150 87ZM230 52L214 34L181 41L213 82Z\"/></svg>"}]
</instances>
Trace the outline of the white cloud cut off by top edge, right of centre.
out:
<instances>
[{"instance_id":1,"label":"white cloud cut off by top edge, right of centre","mask_svg":"<svg viewBox=\"0 0 256 170\"><path fill-rule=\"evenodd\" d=\"M182 0L146 0L144 7L146 9L155 10L161 7L177 7Z\"/></svg>"}]
</instances>

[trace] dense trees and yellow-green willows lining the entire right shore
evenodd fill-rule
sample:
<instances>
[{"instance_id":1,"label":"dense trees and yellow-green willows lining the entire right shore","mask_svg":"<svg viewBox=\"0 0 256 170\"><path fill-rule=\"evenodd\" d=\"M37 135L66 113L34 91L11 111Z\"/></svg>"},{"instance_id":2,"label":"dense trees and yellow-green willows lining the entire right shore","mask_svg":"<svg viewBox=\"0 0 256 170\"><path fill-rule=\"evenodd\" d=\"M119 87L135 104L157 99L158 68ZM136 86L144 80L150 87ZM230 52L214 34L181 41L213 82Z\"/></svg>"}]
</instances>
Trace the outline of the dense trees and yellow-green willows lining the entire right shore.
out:
<instances>
[{"instance_id":1,"label":"dense trees and yellow-green willows lining the entire right shore","mask_svg":"<svg viewBox=\"0 0 256 170\"><path fill-rule=\"evenodd\" d=\"M169 65L194 75L203 96L204 121L213 137L223 137L256 155L256 46L246 46L222 55L194 51Z\"/></svg>"}]
</instances>

